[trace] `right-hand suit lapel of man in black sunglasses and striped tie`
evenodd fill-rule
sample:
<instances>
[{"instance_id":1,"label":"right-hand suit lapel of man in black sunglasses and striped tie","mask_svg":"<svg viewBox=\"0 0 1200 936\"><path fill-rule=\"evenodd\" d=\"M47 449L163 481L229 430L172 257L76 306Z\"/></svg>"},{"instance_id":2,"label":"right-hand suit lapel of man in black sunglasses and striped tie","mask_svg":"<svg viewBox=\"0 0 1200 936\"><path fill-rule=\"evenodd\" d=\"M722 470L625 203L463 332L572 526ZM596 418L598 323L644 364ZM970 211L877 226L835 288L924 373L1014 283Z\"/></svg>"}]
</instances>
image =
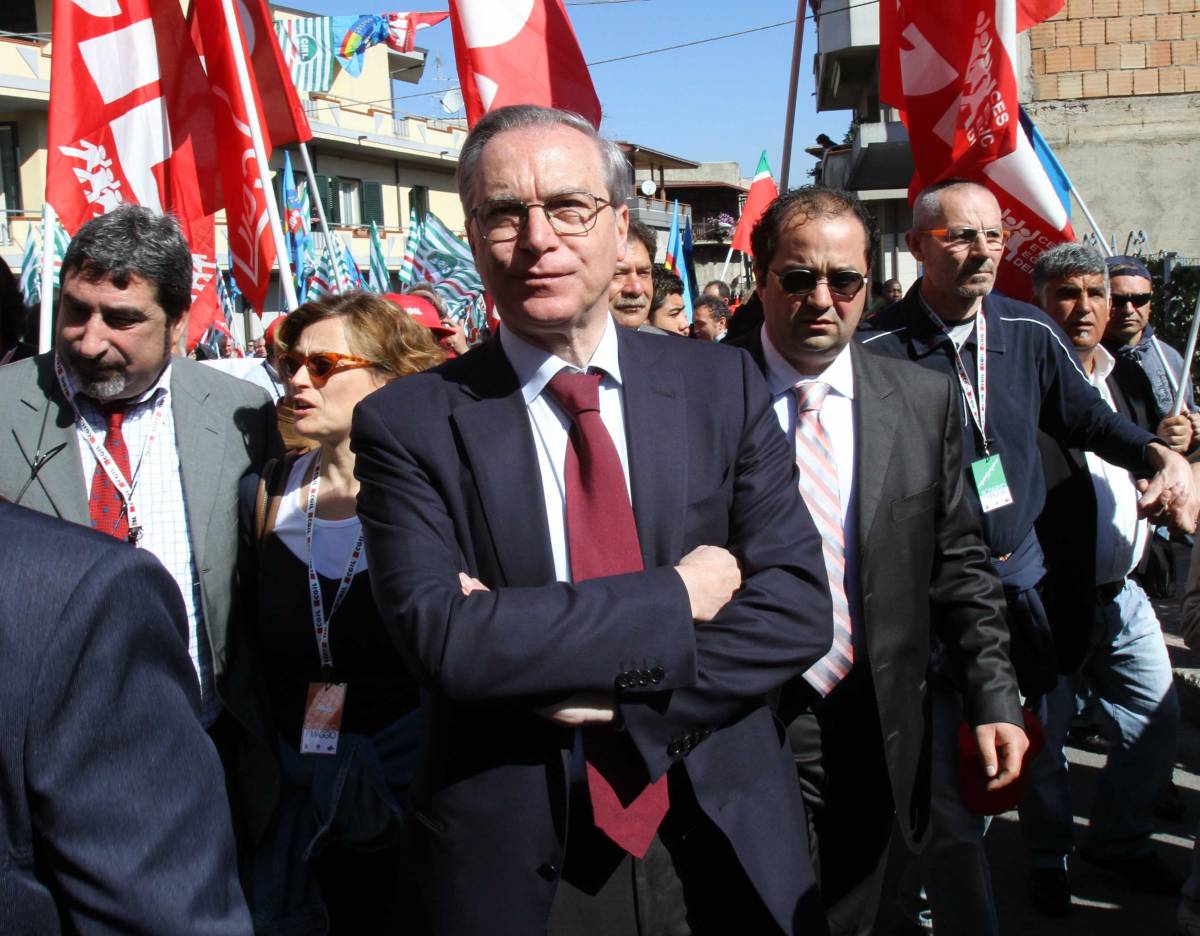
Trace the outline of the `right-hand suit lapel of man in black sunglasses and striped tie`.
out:
<instances>
[{"instance_id":1,"label":"right-hand suit lapel of man in black sunglasses and striped tie","mask_svg":"<svg viewBox=\"0 0 1200 936\"><path fill-rule=\"evenodd\" d=\"M858 544L864 551L883 494L895 443L896 418L890 382L870 366L870 353L850 346L854 367L854 485L858 494Z\"/></svg>"}]
</instances>

